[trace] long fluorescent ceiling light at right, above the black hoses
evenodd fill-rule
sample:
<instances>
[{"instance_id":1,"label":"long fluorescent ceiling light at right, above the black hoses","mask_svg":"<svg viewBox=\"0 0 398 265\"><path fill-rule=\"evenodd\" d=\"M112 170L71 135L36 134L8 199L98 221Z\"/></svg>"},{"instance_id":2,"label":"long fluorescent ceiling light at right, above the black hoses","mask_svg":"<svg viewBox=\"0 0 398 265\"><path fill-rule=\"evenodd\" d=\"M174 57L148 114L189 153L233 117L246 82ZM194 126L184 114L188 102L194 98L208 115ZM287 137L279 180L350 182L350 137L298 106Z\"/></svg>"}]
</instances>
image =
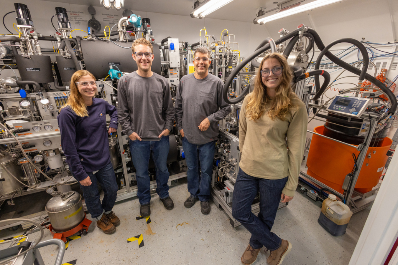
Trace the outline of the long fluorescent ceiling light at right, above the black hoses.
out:
<instances>
[{"instance_id":1,"label":"long fluorescent ceiling light at right, above the black hoses","mask_svg":"<svg viewBox=\"0 0 398 265\"><path fill-rule=\"evenodd\" d=\"M336 2L341 2L342 0L316 0L314 2L308 3L308 4L304 4L304 5L300 5L300 6L296 6L294 8L273 14L273 15L263 15L261 17L258 17L257 19L255 19L255 21L257 20L257 23L261 23L261 24L265 24L269 21L273 21L276 19L280 19L282 17L288 17L289 15L294 15L294 14L298 14L301 12L305 12L311 9L315 9L321 6L326 6L329 4L333 4Z\"/></svg>"}]
</instances>

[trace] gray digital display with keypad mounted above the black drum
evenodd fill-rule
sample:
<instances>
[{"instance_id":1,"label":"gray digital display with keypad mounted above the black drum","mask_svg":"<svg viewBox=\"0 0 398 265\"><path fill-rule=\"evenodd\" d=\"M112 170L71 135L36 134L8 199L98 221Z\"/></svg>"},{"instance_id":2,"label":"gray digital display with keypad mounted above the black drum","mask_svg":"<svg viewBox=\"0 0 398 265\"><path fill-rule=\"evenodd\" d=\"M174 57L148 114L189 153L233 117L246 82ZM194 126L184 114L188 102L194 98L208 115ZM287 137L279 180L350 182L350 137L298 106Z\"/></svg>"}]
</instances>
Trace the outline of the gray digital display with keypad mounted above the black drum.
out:
<instances>
[{"instance_id":1,"label":"gray digital display with keypad mounted above the black drum","mask_svg":"<svg viewBox=\"0 0 398 265\"><path fill-rule=\"evenodd\" d=\"M326 110L343 116L359 118L366 110L370 100L362 97L336 95Z\"/></svg>"}]
</instances>

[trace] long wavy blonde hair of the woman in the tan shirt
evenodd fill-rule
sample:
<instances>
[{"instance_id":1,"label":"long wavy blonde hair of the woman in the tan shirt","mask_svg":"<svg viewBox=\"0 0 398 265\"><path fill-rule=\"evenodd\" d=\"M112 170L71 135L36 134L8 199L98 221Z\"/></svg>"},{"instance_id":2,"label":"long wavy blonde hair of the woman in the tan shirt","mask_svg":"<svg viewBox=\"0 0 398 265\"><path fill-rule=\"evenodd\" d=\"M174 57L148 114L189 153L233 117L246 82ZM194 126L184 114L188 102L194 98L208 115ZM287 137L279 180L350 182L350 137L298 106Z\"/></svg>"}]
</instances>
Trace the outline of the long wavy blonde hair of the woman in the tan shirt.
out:
<instances>
[{"instance_id":1,"label":"long wavy blonde hair of the woman in the tan shirt","mask_svg":"<svg viewBox=\"0 0 398 265\"><path fill-rule=\"evenodd\" d=\"M272 99L267 94L267 87L263 84L260 73L265 60L271 58L277 59L281 66L283 66L282 82L279 87L275 89L276 95ZM292 78L292 70L283 55L279 53L267 54L263 60L261 60L260 67L258 68L256 80L254 81L254 90L247 96L246 117L256 121L265 111L265 105L271 103L271 108L268 111L269 118L272 120L276 118L285 120L286 115L289 113L289 109L293 106L292 100L297 98L292 91Z\"/></svg>"}]
</instances>

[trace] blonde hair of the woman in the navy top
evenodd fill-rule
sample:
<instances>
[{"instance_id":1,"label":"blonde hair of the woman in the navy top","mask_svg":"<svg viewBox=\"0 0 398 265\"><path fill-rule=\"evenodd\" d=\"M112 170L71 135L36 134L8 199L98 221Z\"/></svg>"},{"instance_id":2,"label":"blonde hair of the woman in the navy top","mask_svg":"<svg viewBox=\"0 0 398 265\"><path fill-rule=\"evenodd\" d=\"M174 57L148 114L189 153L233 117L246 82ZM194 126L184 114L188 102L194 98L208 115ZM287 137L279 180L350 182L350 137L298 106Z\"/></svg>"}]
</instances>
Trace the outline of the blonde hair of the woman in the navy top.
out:
<instances>
[{"instance_id":1,"label":"blonde hair of the woman in the navy top","mask_svg":"<svg viewBox=\"0 0 398 265\"><path fill-rule=\"evenodd\" d=\"M94 80L96 80L96 77L87 70L78 70L74 72L70 79L70 95L68 102L59 109L59 112L61 112L61 110L66 106L70 106L77 116L88 117L87 106L84 104L83 97L75 84L81 77L86 75L90 75Z\"/></svg>"}]
</instances>

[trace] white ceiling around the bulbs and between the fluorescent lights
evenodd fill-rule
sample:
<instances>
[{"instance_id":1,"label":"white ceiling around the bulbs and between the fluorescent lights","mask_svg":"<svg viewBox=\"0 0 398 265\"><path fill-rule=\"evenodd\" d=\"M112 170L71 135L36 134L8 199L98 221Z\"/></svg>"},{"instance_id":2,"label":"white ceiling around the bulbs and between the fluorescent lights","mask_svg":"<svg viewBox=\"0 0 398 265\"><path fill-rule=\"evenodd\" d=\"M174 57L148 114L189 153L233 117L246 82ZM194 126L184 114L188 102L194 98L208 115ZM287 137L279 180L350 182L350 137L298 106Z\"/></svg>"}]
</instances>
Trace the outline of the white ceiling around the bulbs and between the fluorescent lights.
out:
<instances>
[{"instance_id":1,"label":"white ceiling around the bulbs and between the fluorescent lights","mask_svg":"<svg viewBox=\"0 0 398 265\"><path fill-rule=\"evenodd\" d=\"M100 0L45 0L79 5L101 6ZM282 0L234 0L219 10L207 15L208 18L225 19L242 22L252 22L256 17L256 10L265 7L266 10L275 8L274 2ZM201 1L202 2L202 1ZM125 0L124 9L141 12L153 12L172 15L189 16L193 10L192 0ZM197 19L197 18L195 18Z\"/></svg>"}]
</instances>

